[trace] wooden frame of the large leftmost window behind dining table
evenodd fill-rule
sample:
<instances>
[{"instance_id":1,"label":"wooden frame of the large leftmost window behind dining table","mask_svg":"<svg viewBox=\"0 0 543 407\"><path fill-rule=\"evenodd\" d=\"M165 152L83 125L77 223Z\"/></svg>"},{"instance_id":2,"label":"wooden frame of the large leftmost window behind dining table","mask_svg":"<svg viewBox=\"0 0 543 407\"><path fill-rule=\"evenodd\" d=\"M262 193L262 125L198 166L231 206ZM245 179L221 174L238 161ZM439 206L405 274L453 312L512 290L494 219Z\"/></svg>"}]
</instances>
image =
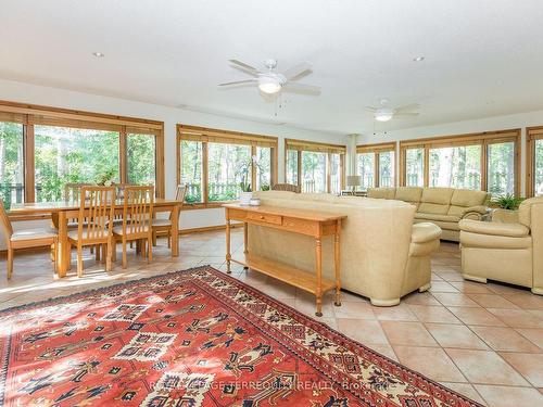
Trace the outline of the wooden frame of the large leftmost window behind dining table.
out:
<instances>
[{"instance_id":1,"label":"wooden frame of the large leftmost window behind dining table","mask_svg":"<svg viewBox=\"0 0 543 407\"><path fill-rule=\"evenodd\" d=\"M164 122L10 101L0 101L0 120L20 123L23 125L26 203L33 203L36 199L35 125L111 130L118 132L119 181L122 183L126 183L127 178L127 135L138 133L154 136L155 193L157 198L164 198Z\"/></svg>"}]
</instances>

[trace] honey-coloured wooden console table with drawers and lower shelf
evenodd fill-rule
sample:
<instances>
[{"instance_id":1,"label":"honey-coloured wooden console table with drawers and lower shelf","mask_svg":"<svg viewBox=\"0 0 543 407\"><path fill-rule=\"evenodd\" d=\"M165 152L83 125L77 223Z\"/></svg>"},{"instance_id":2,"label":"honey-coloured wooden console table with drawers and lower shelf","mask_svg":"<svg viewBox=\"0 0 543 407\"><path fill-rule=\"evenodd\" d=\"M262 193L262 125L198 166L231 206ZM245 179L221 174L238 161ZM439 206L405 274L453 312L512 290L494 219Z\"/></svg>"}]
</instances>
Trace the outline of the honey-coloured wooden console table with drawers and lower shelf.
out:
<instances>
[{"instance_id":1,"label":"honey-coloured wooden console table with drawers and lower shelf","mask_svg":"<svg viewBox=\"0 0 543 407\"><path fill-rule=\"evenodd\" d=\"M336 289L334 305L341 305L341 276L340 276L340 234L341 221L346 215L337 215L326 212L293 209L278 206L242 206L240 204L225 204L226 214L226 266L230 271L230 262L235 262L270 276L277 280L305 290L316 296L317 317L323 316L323 294ZM232 258L230 254L230 221L239 220L244 225L243 244L244 258ZM248 251L248 225L264 226L315 238L315 274L300 270L295 267L261 256L251 255ZM323 243L325 236L333 236L333 266L336 281L323 278Z\"/></svg>"}]
</instances>

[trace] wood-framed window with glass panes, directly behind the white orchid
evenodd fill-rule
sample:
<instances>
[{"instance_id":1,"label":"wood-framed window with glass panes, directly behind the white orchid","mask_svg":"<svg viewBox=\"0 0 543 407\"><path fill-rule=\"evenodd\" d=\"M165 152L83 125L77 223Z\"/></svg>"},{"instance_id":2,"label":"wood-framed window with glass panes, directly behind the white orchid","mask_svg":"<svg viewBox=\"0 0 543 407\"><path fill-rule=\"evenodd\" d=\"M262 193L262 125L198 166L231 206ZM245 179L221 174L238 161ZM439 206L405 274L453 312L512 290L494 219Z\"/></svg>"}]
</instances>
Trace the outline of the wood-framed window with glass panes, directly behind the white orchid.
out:
<instances>
[{"instance_id":1,"label":"wood-framed window with glass panes, directly behind the white orchid","mask_svg":"<svg viewBox=\"0 0 543 407\"><path fill-rule=\"evenodd\" d=\"M178 181L189 207L237 200L243 190L267 190L276 177L277 138L177 125Z\"/></svg>"}]
</instances>

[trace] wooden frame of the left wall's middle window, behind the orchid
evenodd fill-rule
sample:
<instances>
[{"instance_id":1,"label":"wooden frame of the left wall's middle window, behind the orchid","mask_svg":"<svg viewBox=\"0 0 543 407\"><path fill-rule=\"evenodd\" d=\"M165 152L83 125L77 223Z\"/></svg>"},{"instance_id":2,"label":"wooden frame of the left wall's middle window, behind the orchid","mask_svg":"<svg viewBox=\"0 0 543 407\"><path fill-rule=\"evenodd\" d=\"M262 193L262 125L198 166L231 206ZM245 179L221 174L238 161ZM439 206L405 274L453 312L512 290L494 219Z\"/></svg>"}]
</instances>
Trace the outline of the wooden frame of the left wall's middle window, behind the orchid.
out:
<instances>
[{"instance_id":1,"label":"wooden frame of the left wall's middle window, behind the orchid","mask_svg":"<svg viewBox=\"0 0 543 407\"><path fill-rule=\"evenodd\" d=\"M176 180L179 185L181 182L181 141L200 141L202 142L202 202L184 203L182 211L192 209L206 209L213 207L220 207L224 203L232 201L213 201L209 202L209 148L207 143L223 143L223 144L241 144L251 147L251 156L256 155L257 147L265 147L272 149L270 152L270 182L272 186L277 182L277 151L278 138L273 136L254 135L240 131L222 130L215 128L190 126L177 124L176 126ZM251 187L256 186L256 167L251 166ZM272 187L270 186L270 187Z\"/></svg>"}]
</instances>

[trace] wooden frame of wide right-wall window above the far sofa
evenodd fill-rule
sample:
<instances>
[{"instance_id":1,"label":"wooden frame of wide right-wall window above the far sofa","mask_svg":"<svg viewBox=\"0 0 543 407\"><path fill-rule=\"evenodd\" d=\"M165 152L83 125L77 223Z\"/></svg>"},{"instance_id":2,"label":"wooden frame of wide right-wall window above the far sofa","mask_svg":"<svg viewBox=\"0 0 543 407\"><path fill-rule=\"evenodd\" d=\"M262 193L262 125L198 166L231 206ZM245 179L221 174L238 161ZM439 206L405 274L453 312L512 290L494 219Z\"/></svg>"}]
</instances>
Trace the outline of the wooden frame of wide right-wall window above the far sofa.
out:
<instances>
[{"instance_id":1,"label":"wooden frame of wide right-wall window above the far sofa","mask_svg":"<svg viewBox=\"0 0 543 407\"><path fill-rule=\"evenodd\" d=\"M413 140L400 141L400 186L406 183L406 151L409 149L424 149L424 188L428 188L430 181L430 150L440 148L454 148L465 145L481 145L481 191L489 189L489 157L488 147L505 142L514 143L514 179L515 195L520 195L520 143L521 130L507 129L495 131L472 132L455 136L439 136Z\"/></svg>"}]
</instances>

